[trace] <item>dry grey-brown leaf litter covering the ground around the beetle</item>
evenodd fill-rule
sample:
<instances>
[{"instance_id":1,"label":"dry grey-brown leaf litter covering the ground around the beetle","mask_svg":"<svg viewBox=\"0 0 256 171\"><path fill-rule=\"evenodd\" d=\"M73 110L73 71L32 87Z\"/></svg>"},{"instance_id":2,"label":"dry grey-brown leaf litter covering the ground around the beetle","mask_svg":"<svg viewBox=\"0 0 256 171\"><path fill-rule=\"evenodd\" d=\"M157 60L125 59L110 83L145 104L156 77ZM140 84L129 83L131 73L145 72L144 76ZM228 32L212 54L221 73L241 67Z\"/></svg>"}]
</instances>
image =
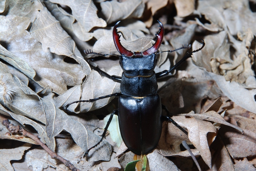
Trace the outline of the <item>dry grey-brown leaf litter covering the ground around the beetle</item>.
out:
<instances>
[{"instance_id":1,"label":"dry grey-brown leaf litter covering the ground around the beetle","mask_svg":"<svg viewBox=\"0 0 256 171\"><path fill-rule=\"evenodd\" d=\"M157 148L147 155L150 170L195 169L189 153L180 145L183 140L192 148L202 170L253 170L255 6L254 1L248 0L3 1L1 119L8 118L35 133L80 170L124 168L133 160L133 154L126 152L124 143L118 149L120 140L115 142L110 136L90 151L87 161L82 159L84 151L100 139L104 124L98 117L116 109L116 100L78 103L70 105L68 112L64 107L72 101L120 92L119 83L91 71L86 60L97 56L83 56L83 50L119 55L112 40L113 24L119 20L122 45L132 51L146 50L154 44L158 30L153 30L157 28L156 20L160 20L166 28L161 51L187 43L192 43L195 50L200 47L200 39L206 46L177 71L159 80L162 103L188 131L188 136L172 123L164 122ZM155 71L170 69L184 53L185 50L160 54ZM115 58L107 57L118 64ZM90 63L102 66L110 75L121 76L119 65L105 66L104 61ZM118 122L113 127L118 127ZM40 147L30 149L28 143L36 144L32 139L10 135L4 126L0 127L0 139L26 142L9 149L4 144L0 149L10 154L0 158L0 166L5 170L67 169ZM14 150L21 151L20 155L11 155ZM20 160L22 156L24 161L10 164L10 160Z\"/></svg>"}]
</instances>

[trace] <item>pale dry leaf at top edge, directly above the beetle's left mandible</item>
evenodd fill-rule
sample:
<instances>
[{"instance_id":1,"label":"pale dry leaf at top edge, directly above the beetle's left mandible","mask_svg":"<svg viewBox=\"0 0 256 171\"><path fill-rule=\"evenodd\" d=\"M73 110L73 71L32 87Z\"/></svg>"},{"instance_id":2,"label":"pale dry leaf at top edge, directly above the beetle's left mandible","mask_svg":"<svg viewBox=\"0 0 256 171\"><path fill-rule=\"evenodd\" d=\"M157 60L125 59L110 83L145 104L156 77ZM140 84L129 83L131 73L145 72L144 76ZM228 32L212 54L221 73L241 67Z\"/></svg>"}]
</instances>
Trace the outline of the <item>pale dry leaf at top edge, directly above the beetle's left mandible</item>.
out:
<instances>
[{"instance_id":1,"label":"pale dry leaf at top edge, directly above the beetle's left mandible","mask_svg":"<svg viewBox=\"0 0 256 171\"><path fill-rule=\"evenodd\" d=\"M100 6L102 8L101 13L109 24L126 18L140 18L144 12L145 4L142 0L126 0L124 2L101 2Z\"/></svg>"}]
</instances>

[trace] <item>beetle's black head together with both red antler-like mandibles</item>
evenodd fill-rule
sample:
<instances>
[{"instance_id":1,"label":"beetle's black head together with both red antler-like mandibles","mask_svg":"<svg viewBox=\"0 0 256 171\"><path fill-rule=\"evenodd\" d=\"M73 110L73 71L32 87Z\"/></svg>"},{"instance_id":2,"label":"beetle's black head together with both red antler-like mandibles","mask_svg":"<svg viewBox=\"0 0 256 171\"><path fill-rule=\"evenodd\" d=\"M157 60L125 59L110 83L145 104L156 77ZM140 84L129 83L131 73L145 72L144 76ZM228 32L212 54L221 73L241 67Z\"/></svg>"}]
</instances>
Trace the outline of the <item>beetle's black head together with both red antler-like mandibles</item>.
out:
<instances>
[{"instance_id":1,"label":"beetle's black head together with both red antler-like mandibles","mask_svg":"<svg viewBox=\"0 0 256 171\"><path fill-rule=\"evenodd\" d=\"M120 65L126 76L148 76L151 75L156 67L155 54L162 44L164 38L164 27L160 21L159 32L156 34L156 42L151 48L143 52L132 52L127 50L120 43L120 35L117 33L118 23L113 28L113 39L116 49L121 54Z\"/></svg>"}]
</instances>

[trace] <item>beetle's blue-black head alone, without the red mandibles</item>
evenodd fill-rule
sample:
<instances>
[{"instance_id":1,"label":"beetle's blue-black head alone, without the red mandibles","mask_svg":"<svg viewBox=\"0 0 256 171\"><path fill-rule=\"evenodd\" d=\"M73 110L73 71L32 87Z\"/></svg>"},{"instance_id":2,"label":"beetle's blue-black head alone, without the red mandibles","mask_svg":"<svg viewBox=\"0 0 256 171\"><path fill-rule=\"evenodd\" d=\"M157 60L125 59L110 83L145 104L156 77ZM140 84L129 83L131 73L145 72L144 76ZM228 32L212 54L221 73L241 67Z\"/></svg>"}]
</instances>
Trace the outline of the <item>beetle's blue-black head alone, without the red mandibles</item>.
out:
<instances>
[{"instance_id":1,"label":"beetle's blue-black head alone, without the red mandibles","mask_svg":"<svg viewBox=\"0 0 256 171\"><path fill-rule=\"evenodd\" d=\"M126 77L148 77L152 76L156 67L156 55L143 56L140 52L134 52L134 56L122 55L119 57L120 66Z\"/></svg>"}]
</instances>

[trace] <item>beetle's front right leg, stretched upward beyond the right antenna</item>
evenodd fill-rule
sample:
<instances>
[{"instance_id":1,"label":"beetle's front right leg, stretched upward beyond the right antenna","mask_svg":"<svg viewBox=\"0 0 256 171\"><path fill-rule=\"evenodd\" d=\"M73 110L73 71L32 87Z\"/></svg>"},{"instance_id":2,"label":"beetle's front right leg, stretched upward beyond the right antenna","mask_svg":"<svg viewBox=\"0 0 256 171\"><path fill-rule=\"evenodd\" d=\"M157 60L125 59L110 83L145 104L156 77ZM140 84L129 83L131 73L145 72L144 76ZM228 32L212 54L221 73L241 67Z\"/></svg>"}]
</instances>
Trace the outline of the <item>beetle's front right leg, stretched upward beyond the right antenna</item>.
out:
<instances>
[{"instance_id":1,"label":"beetle's front right leg, stretched upward beyond the right antenna","mask_svg":"<svg viewBox=\"0 0 256 171\"><path fill-rule=\"evenodd\" d=\"M185 62L188 58L191 58L192 54L195 53L195 52L198 52L200 50L202 50L202 48L204 48L205 46L205 43L204 43L204 40L202 40L202 47L197 49L197 50L194 50L190 53L186 53L186 55L176 64L174 65L169 71L168 70L164 70L162 72L158 72L156 73L156 78L161 78L161 77L164 77L164 76L167 76L170 72L172 72L173 70L176 70L183 62Z\"/></svg>"}]
</instances>

